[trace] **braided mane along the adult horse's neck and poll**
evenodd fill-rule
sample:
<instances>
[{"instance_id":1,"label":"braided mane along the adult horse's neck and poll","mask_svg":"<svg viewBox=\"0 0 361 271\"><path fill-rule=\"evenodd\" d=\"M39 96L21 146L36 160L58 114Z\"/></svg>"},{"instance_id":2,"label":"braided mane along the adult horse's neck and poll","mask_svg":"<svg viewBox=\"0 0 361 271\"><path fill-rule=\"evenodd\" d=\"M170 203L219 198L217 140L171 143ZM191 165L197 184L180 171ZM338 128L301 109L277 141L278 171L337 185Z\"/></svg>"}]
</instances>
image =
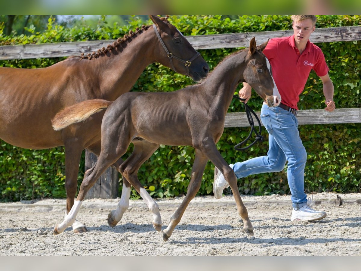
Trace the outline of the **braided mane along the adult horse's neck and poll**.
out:
<instances>
[{"instance_id":1,"label":"braided mane along the adult horse's neck and poll","mask_svg":"<svg viewBox=\"0 0 361 271\"><path fill-rule=\"evenodd\" d=\"M166 17L161 17L160 19L162 21L165 21L165 22L168 22L168 18L169 18L169 15L167 15ZM80 56L69 56L67 59L70 59L70 58L74 58L74 57L79 57L81 60L82 59L94 59L94 58L97 58L99 57L100 55L103 55L105 54L106 52L112 52L112 49L118 47L121 43L123 42L126 42L127 40L129 40L131 37L135 36L136 34L138 33L142 33L143 31L145 30L148 30L149 27L151 27L152 25L142 25L141 28L137 27L135 32L133 32L132 30L129 31L129 35L128 34L125 34L123 36L123 38L118 38L115 42L113 42L113 44L108 44L108 46L103 47L101 49L98 49L96 52L92 52L91 54L88 53L87 55L84 55L84 53L81 53Z\"/></svg>"}]
</instances>

